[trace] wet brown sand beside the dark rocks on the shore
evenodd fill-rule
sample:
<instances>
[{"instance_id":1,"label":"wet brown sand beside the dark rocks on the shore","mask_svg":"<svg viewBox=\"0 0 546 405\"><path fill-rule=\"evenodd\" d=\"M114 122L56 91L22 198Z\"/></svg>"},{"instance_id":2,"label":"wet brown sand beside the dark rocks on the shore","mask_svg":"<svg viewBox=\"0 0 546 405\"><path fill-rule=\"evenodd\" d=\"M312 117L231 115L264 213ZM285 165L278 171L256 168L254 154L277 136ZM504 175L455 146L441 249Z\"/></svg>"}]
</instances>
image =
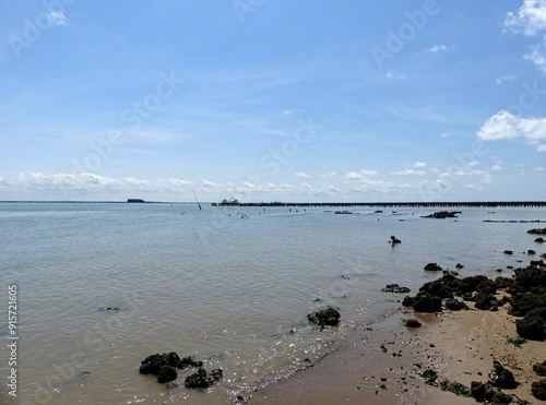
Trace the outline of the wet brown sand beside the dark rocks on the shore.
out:
<instances>
[{"instance_id":1,"label":"wet brown sand beside the dark rocks on the shore","mask_svg":"<svg viewBox=\"0 0 546 405\"><path fill-rule=\"evenodd\" d=\"M434 369L439 378L463 383L486 382L498 360L521 384L502 390L534 404L531 383L541 378L532 368L546 359L546 343L507 342L518 336L514 317L471 307L438 314L401 310L371 330L355 330L339 350L288 380L253 393L251 404L476 404L427 385L419 372ZM415 318L422 327L408 329L402 320Z\"/></svg>"}]
</instances>

